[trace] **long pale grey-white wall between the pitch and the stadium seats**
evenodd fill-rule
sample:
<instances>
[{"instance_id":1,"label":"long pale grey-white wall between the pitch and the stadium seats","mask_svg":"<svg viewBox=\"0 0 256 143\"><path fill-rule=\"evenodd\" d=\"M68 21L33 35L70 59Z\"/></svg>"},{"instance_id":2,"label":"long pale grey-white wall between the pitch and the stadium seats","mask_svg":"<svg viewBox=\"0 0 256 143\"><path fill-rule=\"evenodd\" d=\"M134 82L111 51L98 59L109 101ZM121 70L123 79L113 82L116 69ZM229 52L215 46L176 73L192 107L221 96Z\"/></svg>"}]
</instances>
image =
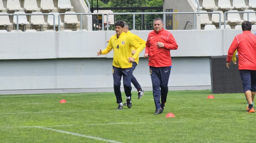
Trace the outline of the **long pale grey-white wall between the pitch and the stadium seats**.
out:
<instances>
[{"instance_id":1,"label":"long pale grey-white wall between the pitch and the stadium seats","mask_svg":"<svg viewBox=\"0 0 256 143\"><path fill-rule=\"evenodd\" d=\"M147 38L149 31L132 31ZM170 90L211 89L209 56L227 55L241 30L171 31ZM252 31L253 33L255 31ZM97 57L114 31L0 33L0 94L113 91L112 52ZM144 51L140 54L143 57ZM148 59L140 58L134 75L152 90ZM135 89L133 88L135 91Z\"/></svg>"}]
</instances>

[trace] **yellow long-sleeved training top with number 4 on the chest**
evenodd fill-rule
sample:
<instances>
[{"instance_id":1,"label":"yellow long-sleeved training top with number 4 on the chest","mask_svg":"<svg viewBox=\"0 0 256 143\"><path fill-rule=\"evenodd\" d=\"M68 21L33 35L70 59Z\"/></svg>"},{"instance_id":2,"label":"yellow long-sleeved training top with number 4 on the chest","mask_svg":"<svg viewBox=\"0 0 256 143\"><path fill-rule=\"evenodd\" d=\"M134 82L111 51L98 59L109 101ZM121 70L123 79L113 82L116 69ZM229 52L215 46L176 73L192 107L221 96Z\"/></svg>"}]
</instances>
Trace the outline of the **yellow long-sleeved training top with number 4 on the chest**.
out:
<instances>
[{"instance_id":1,"label":"yellow long-sleeved training top with number 4 on the chest","mask_svg":"<svg viewBox=\"0 0 256 143\"><path fill-rule=\"evenodd\" d=\"M136 49L136 53L131 55L131 47ZM122 32L117 39L116 34L111 36L108 46L102 51L101 54L107 54L113 49L113 66L117 68L131 68L132 63L128 62L129 57L136 59L143 47L135 41L134 38Z\"/></svg>"}]
</instances>

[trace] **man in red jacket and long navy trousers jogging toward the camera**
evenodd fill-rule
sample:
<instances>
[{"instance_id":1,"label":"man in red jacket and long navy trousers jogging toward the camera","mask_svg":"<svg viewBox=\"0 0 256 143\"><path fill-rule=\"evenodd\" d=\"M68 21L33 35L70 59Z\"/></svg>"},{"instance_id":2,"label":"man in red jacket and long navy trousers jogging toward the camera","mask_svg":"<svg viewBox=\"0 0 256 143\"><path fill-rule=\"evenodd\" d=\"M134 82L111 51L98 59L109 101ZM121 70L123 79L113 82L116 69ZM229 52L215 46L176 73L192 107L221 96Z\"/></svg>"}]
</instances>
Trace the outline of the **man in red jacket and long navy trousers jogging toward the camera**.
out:
<instances>
[{"instance_id":1,"label":"man in red jacket and long navy trousers jogging toward the camera","mask_svg":"<svg viewBox=\"0 0 256 143\"><path fill-rule=\"evenodd\" d=\"M153 26L154 30L149 33L146 41L144 58L149 58L148 65L153 86L155 115L158 115L164 110L168 94L168 81L172 67L170 50L178 49L178 45L172 33L164 30L164 23L161 18L155 18Z\"/></svg>"}]
</instances>

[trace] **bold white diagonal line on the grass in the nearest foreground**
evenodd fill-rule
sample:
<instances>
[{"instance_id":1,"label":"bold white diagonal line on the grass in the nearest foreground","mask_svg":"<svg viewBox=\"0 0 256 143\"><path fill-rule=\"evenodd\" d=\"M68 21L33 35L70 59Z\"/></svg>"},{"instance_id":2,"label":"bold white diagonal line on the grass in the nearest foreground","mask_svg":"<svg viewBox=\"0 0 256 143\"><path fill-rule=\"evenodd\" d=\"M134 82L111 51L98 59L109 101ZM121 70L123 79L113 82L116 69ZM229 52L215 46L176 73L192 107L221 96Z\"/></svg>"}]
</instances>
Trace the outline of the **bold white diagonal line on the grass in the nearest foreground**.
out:
<instances>
[{"instance_id":1,"label":"bold white diagonal line on the grass in the nearest foreground","mask_svg":"<svg viewBox=\"0 0 256 143\"><path fill-rule=\"evenodd\" d=\"M41 128L41 129L45 129L45 130L49 130L49 131L55 131L55 132L59 132L59 133L71 134L71 135L78 136L78 137L85 137L85 138L97 139L97 140L105 141L105 142L121 143L121 142L113 141L113 140L110 140L110 139L92 137L92 136L87 136L87 135L84 135L84 134L73 133L73 132L68 132L68 131L62 131L62 130L57 130L57 129L53 129L53 128L46 128L46 127L41 127L41 126L31 126L31 127L32 127L32 128Z\"/></svg>"}]
</instances>

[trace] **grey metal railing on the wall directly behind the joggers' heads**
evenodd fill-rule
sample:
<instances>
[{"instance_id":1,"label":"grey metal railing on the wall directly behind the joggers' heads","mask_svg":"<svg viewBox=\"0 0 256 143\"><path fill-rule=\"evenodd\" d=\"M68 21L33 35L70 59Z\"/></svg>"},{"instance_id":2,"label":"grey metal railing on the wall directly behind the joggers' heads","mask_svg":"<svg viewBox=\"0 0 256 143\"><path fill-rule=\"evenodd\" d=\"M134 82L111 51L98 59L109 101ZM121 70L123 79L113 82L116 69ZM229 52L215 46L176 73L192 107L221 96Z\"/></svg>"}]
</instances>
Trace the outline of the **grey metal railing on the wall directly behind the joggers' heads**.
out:
<instances>
[{"instance_id":1,"label":"grey metal railing on the wall directly behind the joggers' heads","mask_svg":"<svg viewBox=\"0 0 256 143\"><path fill-rule=\"evenodd\" d=\"M129 12L129 13L109 13L107 14L107 30L108 30L108 15L133 15L133 29L135 30L135 14L163 14L164 28L166 25L165 15L166 14L193 14L195 23L195 14L219 14L219 28L221 27L221 12ZM195 24L194 24L195 29Z\"/></svg>"}]
</instances>

